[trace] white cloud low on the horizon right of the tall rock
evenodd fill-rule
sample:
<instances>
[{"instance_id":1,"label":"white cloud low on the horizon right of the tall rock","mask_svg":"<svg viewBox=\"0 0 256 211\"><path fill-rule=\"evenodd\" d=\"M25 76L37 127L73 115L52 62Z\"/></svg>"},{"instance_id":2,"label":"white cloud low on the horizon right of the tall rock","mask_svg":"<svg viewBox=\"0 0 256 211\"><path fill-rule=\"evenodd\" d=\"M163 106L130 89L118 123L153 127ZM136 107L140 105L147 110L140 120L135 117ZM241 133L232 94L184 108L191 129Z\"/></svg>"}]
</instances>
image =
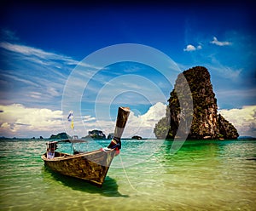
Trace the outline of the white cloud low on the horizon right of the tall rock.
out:
<instances>
[{"instance_id":1,"label":"white cloud low on the horizon right of the tall rock","mask_svg":"<svg viewBox=\"0 0 256 211\"><path fill-rule=\"evenodd\" d=\"M235 126L239 135L256 137L256 106L242 106L241 109L223 109L218 112Z\"/></svg>"}]
</instances>

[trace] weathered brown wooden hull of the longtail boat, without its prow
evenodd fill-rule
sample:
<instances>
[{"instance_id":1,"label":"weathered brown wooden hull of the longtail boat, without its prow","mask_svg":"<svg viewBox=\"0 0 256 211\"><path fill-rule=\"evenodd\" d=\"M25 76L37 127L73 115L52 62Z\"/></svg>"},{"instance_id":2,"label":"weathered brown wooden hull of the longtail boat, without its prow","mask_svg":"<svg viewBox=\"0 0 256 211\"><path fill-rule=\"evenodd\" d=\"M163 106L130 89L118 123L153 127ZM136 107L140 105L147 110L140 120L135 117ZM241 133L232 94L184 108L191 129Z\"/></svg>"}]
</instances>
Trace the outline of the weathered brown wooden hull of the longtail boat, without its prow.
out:
<instances>
[{"instance_id":1,"label":"weathered brown wooden hull of the longtail boat, without its prow","mask_svg":"<svg viewBox=\"0 0 256 211\"><path fill-rule=\"evenodd\" d=\"M114 156L114 151L98 150L77 155L55 151L54 158L48 159L46 153L44 153L42 159L45 165L55 172L86 180L101 187Z\"/></svg>"}]
</instances>

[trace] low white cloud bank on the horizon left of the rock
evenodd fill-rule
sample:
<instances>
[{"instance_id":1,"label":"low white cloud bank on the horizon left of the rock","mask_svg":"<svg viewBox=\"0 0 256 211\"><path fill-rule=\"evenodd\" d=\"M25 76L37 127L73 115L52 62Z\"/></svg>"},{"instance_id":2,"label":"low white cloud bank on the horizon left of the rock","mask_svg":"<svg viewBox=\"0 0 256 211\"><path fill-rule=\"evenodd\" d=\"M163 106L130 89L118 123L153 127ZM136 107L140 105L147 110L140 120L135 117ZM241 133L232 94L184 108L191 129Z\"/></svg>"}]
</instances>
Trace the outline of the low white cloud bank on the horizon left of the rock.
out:
<instances>
[{"instance_id":1,"label":"low white cloud bank on the horizon left of the rock","mask_svg":"<svg viewBox=\"0 0 256 211\"><path fill-rule=\"evenodd\" d=\"M30 138L43 135L48 138L50 134L58 134L65 131L62 120L62 111L52 111L46 108L28 108L20 104L0 106L0 134L6 137ZM126 123L123 137L131 138L137 134L144 138L154 138L154 125L160 118L166 115L166 105L156 103L143 115L135 115L131 111ZM79 117L77 117L79 118ZM65 118L66 119L66 118ZM96 120L96 117L86 115L83 118L84 125L75 121L73 133L84 136L88 130L101 129L106 135L113 133L115 122L113 120ZM67 131L67 134L71 133ZM72 134L71 134L72 135Z\"/></svg>"}]
</instances>

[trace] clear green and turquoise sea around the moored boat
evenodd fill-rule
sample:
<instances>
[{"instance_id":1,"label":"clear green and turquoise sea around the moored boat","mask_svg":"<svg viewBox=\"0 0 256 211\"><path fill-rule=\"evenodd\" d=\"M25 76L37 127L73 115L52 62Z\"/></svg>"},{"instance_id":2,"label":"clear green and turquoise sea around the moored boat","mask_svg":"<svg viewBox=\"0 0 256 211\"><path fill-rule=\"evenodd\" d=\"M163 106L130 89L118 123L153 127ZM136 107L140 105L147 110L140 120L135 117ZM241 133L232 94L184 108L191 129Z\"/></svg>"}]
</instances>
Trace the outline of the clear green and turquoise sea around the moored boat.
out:
<instances>
[{"instance_id":1,"label":"clear green and turquoise sea around the moored boat","mask_svg":"<svg viewBox=\"0 0 256 211\"><path fill-rule=\"evenodd\" d=\"M45 142L0 140L0 210L256 210L255 140L122 140L102 188L45 168Z\"/></svg>"}]
</instances>

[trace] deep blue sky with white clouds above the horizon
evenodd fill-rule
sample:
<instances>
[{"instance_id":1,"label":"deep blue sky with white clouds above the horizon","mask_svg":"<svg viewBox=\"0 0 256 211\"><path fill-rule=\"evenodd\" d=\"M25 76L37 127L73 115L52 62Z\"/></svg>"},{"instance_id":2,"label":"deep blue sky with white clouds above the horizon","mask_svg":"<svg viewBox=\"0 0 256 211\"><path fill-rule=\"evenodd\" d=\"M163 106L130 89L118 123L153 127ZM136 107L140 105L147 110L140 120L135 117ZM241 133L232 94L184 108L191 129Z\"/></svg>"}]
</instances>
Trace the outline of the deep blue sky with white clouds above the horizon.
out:
<instances>
[{"instance_id":1,"label":"deep blue sky with white clouds above the horizon","mask_svg":"<svg viewBox=\"0 0 256 211\"><path fill-rule=\"evenodd\" d=\"M210 71L219 112L241 135L256 136L256 31L251 6L246 2L3 4L0 136L47 138L64 130L84 136L93 128L108 134L117 107L130 106L125 136L154 137L152 128L165 115L177 69L193 66ZM150 57L148 64L132 60L99 66L102 60L112 60L113 52L98 63L86 62L88 56L123 43L160 51L154 60L164 64L166 55L175 74L166 78L148 66ZM69 102L67 88L72 94ZM70 131L67 115L73 98L79 102L74 108L75 131Z\"/></svg>"}]
</instances>

